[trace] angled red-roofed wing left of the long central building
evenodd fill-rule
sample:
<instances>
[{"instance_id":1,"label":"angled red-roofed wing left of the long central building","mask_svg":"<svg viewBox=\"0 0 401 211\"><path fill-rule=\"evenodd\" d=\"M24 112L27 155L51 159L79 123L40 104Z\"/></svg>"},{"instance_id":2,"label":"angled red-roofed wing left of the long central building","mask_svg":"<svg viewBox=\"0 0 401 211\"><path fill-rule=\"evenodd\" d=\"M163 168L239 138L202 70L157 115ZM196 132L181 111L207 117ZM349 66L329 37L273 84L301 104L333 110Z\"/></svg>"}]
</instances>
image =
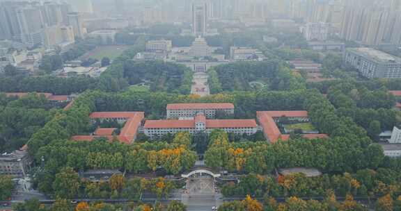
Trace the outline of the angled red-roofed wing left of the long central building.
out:
<instances>
[{"instance_id":1,"label":"angled red-roofed wing left of the long central building","mask_svg":"<svg viewBox=\"0 0 401 211\"><path fill-rule=\"evenodd\" d=\"M116 120L124 127L120 131L120 135L113 136L116 128L97 128L95 135L74 135L72 140L75 141L92 141L96 137L106 137L109 141L116 137L120 142L131 144L136 139L136 135L141 128L142 120L145 118L145 112L93 112L90 118L95 121Z\"/></svg>"}]
</instances>

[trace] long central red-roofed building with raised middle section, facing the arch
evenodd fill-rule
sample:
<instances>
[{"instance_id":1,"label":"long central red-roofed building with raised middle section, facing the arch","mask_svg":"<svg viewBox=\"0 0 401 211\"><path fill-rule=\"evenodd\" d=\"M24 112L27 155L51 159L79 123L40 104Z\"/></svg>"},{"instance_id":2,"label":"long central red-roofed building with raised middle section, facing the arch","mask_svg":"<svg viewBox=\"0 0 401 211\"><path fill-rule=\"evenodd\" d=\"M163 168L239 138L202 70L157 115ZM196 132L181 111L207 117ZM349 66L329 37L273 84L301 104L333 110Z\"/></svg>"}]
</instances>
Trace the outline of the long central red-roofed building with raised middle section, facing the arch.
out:
<instances>
[{"instance_id":1,"label":"long central red-roofed building with raised middle section, facing the arch","mask_svg":"<svg viewBox=\"0 0 401 211\"><path fill-rule=\"evenodd\" d=\"M206 119L203 114L200 114L192 120L147 120L143 133L154 138L178 132L210 133L214 129L221 129L227 133L252 135L258 131L258 124L255 119Z\"/></svg>"}]
</instances>

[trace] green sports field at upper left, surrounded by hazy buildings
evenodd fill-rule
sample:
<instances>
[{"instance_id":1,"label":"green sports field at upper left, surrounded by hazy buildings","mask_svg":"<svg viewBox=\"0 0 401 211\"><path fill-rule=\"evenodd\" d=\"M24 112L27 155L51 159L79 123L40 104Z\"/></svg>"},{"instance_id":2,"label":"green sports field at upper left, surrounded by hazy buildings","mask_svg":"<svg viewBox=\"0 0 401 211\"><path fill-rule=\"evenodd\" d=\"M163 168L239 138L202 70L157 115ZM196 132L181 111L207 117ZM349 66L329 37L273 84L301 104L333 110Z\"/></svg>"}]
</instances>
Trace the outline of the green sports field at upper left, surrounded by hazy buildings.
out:
<instances>
[{"instance_id":1,"label":"green sports field at upper left, surrounded by hazy buildings","mask_svg":"<svg viewBox=\"0 0 401 211\"><path fill-rule=\"evenodd\" d=\"M110 46L102 46L97 47L93 51L89 51L86 53L82 58L95 58L97 60L102 60L104 57L108 57L111 60L117 58L118 56L123 53L128 48L128 46L121 46L121 45L110 45Z\"/></svg>"}]
</instances>

